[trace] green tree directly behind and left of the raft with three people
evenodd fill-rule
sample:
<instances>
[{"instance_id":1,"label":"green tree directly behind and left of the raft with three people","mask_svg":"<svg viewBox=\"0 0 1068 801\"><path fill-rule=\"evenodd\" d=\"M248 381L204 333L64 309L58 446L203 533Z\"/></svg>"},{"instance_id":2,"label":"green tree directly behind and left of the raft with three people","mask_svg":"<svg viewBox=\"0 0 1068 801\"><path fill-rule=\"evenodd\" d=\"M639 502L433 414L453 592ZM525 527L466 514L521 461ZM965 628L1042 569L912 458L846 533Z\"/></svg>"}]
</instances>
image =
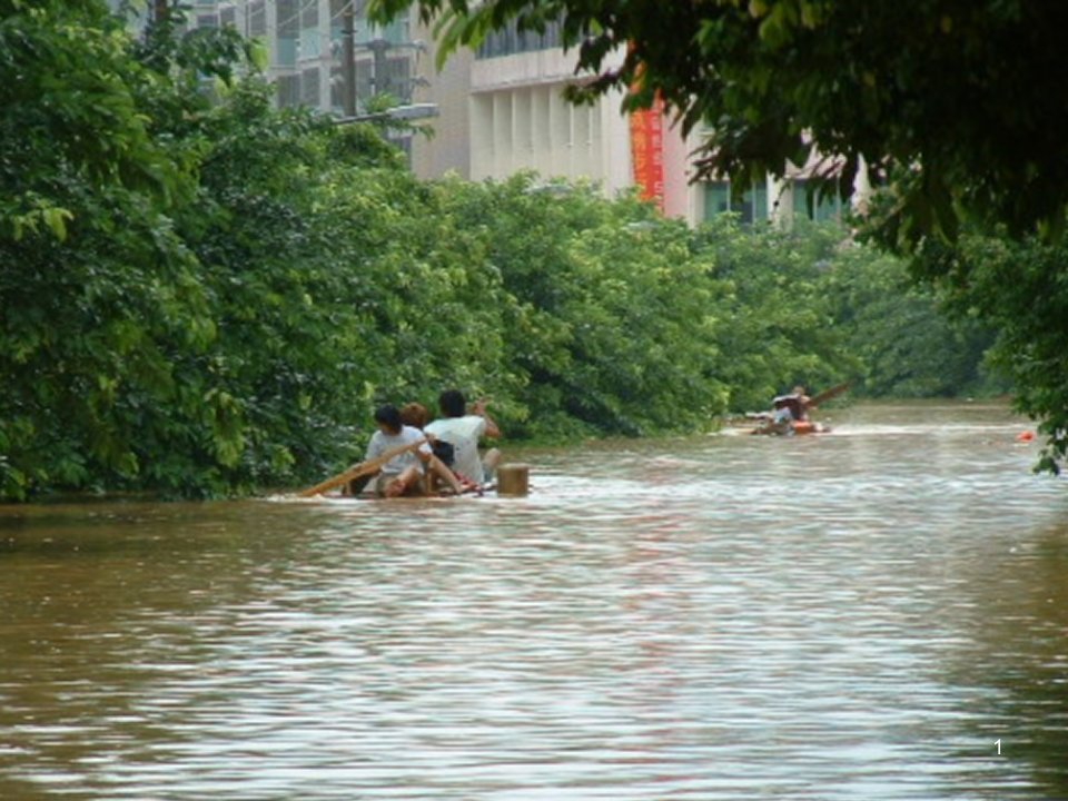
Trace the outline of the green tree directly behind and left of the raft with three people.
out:
<instances>
[{"instance_id":1,"label":"green tree directly behind and left of the raft with three people","mask_svg":"<svg viewBox=\"0 0 1068 801\"><path fill-rule=\"evenodd\" d=\"M222 488L332 469L360 449L376 403L498 374L498 281L370 127L275 111L245 85L201 136L199 197L178 230L217 334L181 365L185 385L222 404Z\"/></svg>"}]
</instances>

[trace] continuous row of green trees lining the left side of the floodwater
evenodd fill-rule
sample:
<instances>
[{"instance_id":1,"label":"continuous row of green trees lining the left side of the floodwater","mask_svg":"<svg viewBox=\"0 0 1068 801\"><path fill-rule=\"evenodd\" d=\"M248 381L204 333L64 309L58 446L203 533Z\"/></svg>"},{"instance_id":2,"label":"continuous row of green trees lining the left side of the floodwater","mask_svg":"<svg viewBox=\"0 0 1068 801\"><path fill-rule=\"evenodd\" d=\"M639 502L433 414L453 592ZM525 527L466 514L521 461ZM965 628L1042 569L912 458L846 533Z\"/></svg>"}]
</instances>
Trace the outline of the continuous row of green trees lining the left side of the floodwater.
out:
<instances>
[{"instance_id":1,"label":"continuous row of green trees lining the left side of the floodwater","mask_svg":"<svg viewBox=\"0 0 1068 801\"><path fill-rule=\"evenodd\" d=\"M377 403L451 386L512 438L572 442L705 431L799 382L1006 388L992 327L840 227L423 182L374 127L271 109L226 31L0 10L0 498L309 483L358 458Z\"/></svg>"}]
</instances>

